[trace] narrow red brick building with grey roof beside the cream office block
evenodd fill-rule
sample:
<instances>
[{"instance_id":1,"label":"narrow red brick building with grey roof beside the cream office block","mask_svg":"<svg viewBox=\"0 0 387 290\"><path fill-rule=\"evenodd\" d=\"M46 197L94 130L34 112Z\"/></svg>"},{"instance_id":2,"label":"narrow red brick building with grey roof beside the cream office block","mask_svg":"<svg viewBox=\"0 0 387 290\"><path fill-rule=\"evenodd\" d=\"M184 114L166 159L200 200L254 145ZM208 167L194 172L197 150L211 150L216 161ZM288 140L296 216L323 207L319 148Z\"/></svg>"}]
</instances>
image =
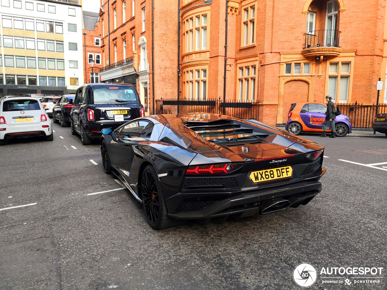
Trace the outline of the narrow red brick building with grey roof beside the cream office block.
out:
<instances>
[{"instance_id":1,"label":"narrow red brick building with grey roof beside the cream office block","mask_svg":"<svg viewBox=\"0 0 387 290\"><path fill-rule=\"evenodd\" d=\"M82 15L84 80L89 84L99 83L99 70L102 67L101 29L98 26L99 15L89 11L82 11Z\"/></svg>"}]
</instances>

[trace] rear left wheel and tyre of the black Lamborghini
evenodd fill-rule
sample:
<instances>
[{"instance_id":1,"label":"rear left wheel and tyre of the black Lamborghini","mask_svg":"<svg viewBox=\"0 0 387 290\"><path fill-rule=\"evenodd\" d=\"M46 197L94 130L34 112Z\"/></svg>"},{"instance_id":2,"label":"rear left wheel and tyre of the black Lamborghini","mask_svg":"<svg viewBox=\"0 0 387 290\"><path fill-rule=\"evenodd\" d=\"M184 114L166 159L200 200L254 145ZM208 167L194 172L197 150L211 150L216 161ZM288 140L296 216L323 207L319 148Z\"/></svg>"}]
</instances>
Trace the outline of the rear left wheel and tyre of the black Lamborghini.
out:
<instances>
[{"instance_id":1,"label":"rear left wheel and tyre of the black Lamborghini","mask_svg":"<svg viewBox=\"0 0 387 290\"><path fill-rule=\"evenodd\" d=\"M146 220L152 229L161 230L179 224L179 220L168 217L163 187L152 165L147 165L142 172L140 189L142 207L144 208Z\"/></svg>"}]
</instances>

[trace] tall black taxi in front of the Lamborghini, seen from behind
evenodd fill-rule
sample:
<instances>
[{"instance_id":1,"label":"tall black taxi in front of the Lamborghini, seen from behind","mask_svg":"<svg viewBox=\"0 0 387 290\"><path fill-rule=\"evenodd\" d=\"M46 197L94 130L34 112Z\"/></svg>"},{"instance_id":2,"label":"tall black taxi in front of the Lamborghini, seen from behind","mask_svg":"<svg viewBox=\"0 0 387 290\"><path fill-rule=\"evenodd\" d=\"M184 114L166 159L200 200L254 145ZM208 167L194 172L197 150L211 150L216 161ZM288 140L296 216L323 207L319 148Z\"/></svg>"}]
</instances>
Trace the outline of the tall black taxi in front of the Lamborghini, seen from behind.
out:
<instances>
[{"instance_id":1,"label":"tall black taxi in front of the Lamborghini, seen from behind","mask_svg":"<svg viewBox=\"0 0 387 290\"><path fill-rule=\"evenodd\" d=\"M77 89L70 114L72 135L78 133L83 145L100 138L101 130L115 130L123 123L144 117L139 95L130 84L84 84Z\"/></svg>"}]
</instances>

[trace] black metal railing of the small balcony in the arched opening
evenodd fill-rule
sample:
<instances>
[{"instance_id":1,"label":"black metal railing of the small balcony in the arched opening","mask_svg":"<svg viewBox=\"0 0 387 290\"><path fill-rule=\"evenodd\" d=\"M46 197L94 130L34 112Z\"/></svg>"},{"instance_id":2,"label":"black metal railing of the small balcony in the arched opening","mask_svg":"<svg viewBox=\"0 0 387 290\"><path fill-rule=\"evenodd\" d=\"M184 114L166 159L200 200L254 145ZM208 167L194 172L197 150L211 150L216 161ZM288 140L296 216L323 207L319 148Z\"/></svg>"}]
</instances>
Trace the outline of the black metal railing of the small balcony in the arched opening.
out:
<instances>
[{"instance_id":1,"label":"black metal railing of the small balcony in the arched opening","mask_svg":"<svg viewBox=\"0 0 387 290\"><path fill-rule=\"evenodd\" d=\"M315 30L305 33L305 48L312 47L339 47L339 30Z\"/></svg>"}]
</instances>

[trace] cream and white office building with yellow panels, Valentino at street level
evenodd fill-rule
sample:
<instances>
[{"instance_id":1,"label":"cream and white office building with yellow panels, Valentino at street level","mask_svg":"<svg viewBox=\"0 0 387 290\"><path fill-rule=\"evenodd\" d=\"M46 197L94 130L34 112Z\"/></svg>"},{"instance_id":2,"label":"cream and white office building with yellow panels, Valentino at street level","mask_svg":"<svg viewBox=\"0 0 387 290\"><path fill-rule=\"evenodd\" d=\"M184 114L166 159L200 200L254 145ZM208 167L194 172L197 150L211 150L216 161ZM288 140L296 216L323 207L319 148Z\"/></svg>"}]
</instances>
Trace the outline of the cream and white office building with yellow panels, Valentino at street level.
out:
<instances>
[{"instance_id":1,"label":"cream and white office building with yellow panels, Valentino at street level","mask_svg":"<svg viewBox=\"0 0 387 290\"><path fill-rule=\"evenodd\" d=\"M0 97L83 84L81 0L0 0Z\"/></svg>"}]
</instances>

